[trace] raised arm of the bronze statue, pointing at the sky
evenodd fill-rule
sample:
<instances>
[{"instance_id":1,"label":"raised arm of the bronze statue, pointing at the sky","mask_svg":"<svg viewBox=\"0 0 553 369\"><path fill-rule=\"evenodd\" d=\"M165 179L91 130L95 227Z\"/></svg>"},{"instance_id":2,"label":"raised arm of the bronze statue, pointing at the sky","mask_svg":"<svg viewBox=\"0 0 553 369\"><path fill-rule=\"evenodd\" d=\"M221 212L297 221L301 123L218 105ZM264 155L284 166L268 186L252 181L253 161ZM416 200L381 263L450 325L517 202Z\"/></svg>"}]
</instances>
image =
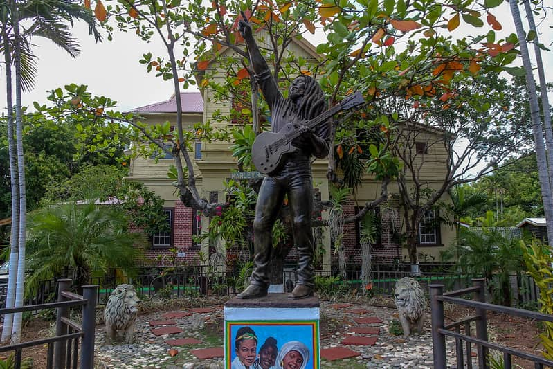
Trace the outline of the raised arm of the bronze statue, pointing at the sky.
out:
<instances>
[{"instance_id":1,"label":"raised arm of the bronze statue, pointing at the sky","mask_svg":"<svg viewBox=\"0 0 553 369\"><path fill-rule=\"evenodd\" d=\"M242 19L238 21L238 30L246 42L251 66L255 72L255 78L263 91L263 96L267 104L269 104L269 107L272 109L273 103L276 102L282 94L278 89L278 84L273 78L273 75L271 75L269 64L267 64L265 58L261 55L260 48L253 38L251 24L248 22L248 19L246 19L244 12L242 12Z\"/></svg>"}]
</instances>

